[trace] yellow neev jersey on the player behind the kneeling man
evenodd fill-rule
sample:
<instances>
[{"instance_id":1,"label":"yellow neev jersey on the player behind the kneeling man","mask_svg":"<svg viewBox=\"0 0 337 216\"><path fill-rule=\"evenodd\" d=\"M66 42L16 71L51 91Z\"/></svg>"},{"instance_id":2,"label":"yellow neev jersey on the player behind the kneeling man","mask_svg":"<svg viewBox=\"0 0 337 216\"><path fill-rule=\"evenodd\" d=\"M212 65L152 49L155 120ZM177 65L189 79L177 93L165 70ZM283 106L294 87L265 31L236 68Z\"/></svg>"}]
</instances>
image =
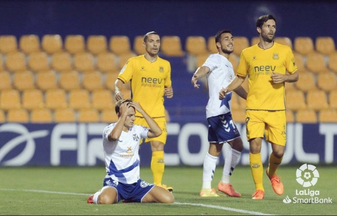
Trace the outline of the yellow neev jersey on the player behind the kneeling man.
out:
<instances>
[{"instance_id":1,"label":"yellow neev jersey on the player behind the kneeling man","mask_svg":"<svg viewBox=\"0 0 337 216\"><path fill-rule=\"evenodd\" d=\"M170 62L157 57L155 62L144 55L130 58L118 79L131 80L132 100L139 102L151 117L165 117L164 87L171 87ZM135 116L143 117L136 111Z\"/></svg>"}]
</instances>

